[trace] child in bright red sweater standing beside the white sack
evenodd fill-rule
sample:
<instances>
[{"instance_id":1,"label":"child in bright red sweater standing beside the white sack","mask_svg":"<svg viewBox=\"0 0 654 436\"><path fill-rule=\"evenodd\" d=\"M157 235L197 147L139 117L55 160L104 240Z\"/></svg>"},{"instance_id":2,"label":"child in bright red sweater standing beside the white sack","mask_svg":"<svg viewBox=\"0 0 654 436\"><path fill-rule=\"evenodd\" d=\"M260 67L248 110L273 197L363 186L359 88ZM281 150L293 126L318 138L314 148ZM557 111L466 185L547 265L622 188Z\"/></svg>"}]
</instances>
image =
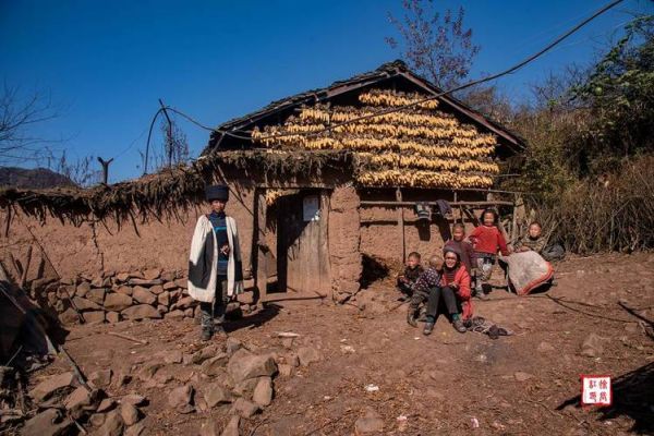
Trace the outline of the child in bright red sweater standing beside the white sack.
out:
<instances>
[{"instance_id":1,"label":"child in bright red sweater standing beside the white sack","mask_svg":"<svg viewBox=\"0 0 654 436\"><path fill-rule=\"evenodd\" d=\"M497 213L486 209L482 213L481 218L483 225L472 231L470 240L473 243L476 262L475 295L485 300L483 283L491 279L497 250L499 249L504 256L509 255L509 250L504 234L497 228Z\"/></svg>"}]
</instances>

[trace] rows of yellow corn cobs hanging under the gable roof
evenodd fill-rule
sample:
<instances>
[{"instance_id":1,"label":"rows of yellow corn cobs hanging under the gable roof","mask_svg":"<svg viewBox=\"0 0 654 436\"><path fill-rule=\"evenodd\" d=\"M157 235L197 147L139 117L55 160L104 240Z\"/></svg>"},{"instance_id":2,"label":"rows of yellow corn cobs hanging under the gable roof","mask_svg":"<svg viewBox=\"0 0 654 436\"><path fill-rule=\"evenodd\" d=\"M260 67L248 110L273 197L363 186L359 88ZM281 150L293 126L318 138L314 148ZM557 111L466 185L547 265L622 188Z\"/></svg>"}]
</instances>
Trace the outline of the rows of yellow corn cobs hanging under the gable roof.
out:
<instances>
[{"instance_id":1,"label":"rows of yellow corn cobs hanging under the gable roof","mask_svg":"<svg viewBox=\"0 0 654 436\"><path fill-rule=\"evenodd\" d=\"M255 129L252 138L270 150L291 154L298 149L355 152L362 166L356 181L363 185L491 186L488 175L499 172L489 159L497 145L495 135L436 110L437 100L417 102L423 98L373 89L359 96L362 108L303 108L282 125ZM405 105L413 106L372 117L380 108Z\"/></svg>"}]
</instances>

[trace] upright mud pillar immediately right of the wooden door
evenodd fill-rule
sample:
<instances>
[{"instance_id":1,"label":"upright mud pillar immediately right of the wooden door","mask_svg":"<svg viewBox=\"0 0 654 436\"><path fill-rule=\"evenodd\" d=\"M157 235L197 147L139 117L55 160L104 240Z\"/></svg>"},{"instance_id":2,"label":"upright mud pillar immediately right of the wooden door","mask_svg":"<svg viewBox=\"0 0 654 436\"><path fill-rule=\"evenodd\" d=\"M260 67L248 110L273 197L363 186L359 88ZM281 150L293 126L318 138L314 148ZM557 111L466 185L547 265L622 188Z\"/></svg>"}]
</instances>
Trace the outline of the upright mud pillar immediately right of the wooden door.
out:
<instances>
[{"instance_id":1,"label":"upright mud pillar immediately right of the wooden door","mask_svg":"<svg viewBox=\"0 0 654 436\"><path fill-rule=\"evenodd\" d=\"M337 301L359 291L362 272L359 194L351 186L334 190L329 198L329 263Z\"/></svg>"}]
</instances>

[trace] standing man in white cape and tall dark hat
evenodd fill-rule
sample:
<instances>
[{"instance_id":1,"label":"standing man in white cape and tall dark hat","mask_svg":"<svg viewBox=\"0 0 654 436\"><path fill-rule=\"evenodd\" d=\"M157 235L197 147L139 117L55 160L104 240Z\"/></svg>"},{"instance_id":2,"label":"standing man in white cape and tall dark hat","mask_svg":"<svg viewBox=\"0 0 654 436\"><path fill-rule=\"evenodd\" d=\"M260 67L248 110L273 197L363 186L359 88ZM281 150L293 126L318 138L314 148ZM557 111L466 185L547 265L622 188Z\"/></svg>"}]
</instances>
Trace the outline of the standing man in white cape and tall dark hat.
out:
<instances>
[{"instance_id":1,"label":"standing man in white cape and tall dark hat","mask_svg":"<svg viewBox=\"0 0 654 436\"><path fill-rule=\"evenodd\" d=\"M189 294L199 301L202 340L225 337L225 311L231 296L243 291L243 270L237 221L225 214L229 187L206 187L211 213L198 218L189 256Z\"/></svg>"}]
</instances>

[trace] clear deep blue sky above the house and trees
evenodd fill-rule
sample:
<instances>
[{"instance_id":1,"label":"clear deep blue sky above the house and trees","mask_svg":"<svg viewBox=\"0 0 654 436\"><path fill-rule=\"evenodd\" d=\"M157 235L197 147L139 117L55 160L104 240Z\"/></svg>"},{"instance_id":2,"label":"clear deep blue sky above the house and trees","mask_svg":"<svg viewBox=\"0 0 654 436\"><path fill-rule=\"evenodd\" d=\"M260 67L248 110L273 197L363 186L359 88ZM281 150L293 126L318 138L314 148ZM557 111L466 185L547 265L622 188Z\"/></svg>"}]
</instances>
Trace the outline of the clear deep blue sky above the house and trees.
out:
<instances>
[{"instance_id":1,"label":"clear deep blue sky above the house and trees","mask_svg":"<svg viewBox=\"0 0 654 436\"><path fill-rule=\"evenodd\" d=\"M502 70L605 4L595 1L437 1L465 8L482 46L471 77ZM218 125L298 92L398 58L387 13L400 0L24 1L0 0L0 80L51 97L58 117L35 128L72 157L117 157L110 181L134 178L158 98ZM497 85L519 100L529 85L588 63L629 12L627 0L559 48ZM192 155L208 133L181 123ZM159 137L156 137L159 144Z\"/></svg>"}]
</instances>

